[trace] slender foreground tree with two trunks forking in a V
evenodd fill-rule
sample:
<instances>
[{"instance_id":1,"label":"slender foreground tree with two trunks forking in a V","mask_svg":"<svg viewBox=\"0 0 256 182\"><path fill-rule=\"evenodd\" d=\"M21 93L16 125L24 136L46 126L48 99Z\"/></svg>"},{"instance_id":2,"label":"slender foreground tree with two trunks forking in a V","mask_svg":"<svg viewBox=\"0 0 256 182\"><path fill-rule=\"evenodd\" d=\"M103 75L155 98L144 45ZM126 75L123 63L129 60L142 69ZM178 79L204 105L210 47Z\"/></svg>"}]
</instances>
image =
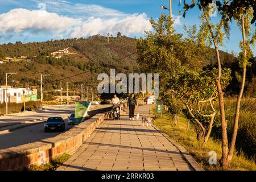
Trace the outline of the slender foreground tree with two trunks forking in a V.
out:
<instances>
[{"instance_id":1,"label":"slender foreground tree with two trunks forking in a V","mask_svg":"<svg viewBox=\"0 0 256 182\"><path fill-rule=\"evenodd\" d=\"M188 5L184 1L184 13L183 16L185 17L185 13L192 9L195 6L198 6L199 9L203 12L204 22L203 22L203 30L205 32L205 36L212 39L214 44L214 48L216 50L216 59L218 63L218 75L216 77L216 86L218 89L218 98L219 98L219 106L220 106L220 114L221 114L221 127L222 127L222 157L221 157L221 165L223 167L228 167L231 163L233 153L234 153L234 146L236 143L236 135L238 130L238 120L240 114L240 104L241 98L243 94L243 88L245 86L245 76L246 76L246 67L248 65L249 56L247 55L247 51L250 51L250 45L254 44L255 42L255 33L253 36L250 37L250 23L255 22L256 14L256 2L255 1L217 1L216 6L218 13L221 15L220 22L217 25L210 23L210 8L209 5L212 3L212 0L193 0L191 5ZM238 24L241 26L242 31L242 53L240 56L241 65L243 68L242 73L242 81L240 87L240 93L237 97L237 105L236 105L236 113L234 117L234 128L232 139L230 142L230 148L228 145L228 134L227 134L227 125L228 121L225 119L225 109L224 109L224 96L221 89L221 60L220 60L220 53L218 50L218 44L222 44L222 40L224 38L224 34L222 30L229 35L229 26L228 23L232 21L232 18L237 20ZM251 21L249 21L251 19ZM247 25L247 26L246 26ZM206 31L206 27L208 27L208 31ZM247 38L247 41L246 41ZM208 39L209 40L209 39Z\"/></svg>"}]
</instances>

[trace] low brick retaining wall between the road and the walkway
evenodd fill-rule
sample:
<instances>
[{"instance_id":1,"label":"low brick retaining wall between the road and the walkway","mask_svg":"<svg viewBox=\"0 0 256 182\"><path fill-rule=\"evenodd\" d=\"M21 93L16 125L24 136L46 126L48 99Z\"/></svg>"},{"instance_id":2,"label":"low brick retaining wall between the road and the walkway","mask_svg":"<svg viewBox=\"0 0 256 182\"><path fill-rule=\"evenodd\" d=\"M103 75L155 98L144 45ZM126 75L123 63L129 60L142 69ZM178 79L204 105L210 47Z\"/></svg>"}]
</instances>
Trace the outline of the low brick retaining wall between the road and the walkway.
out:
<instances>
[{"instance_id":1,"label":"low brick retaining wall between the road and the walkway","mask_svg":"<svg viewBox=\"0 0 256 182\"><path fill-rule=\"evenodd\" d=\"M64 153L73 154L96 127L109 117L111 113L96 114L56 137L0 150L0 171L22 170L31 164L39 165L43 159L48 163Z\"/></svg>"}]
</instances>

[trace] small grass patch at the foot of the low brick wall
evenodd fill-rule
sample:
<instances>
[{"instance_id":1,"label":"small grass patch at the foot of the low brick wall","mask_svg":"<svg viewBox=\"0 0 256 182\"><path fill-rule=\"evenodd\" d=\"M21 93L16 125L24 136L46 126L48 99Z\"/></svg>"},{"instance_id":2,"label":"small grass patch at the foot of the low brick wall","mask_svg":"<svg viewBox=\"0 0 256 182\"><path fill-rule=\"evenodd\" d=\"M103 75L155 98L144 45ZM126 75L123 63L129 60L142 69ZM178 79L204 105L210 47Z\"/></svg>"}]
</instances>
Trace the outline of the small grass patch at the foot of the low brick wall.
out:
<instances>
[{"instance_id":1,"label":"small grass patch at the foot of the low brick wall","mask_svg":"<svg viewBox=\"0 0 256 182\"><path fill-rule=\"evenodd\" d=\"M63 154L51 160L51 162L47 164L42 164L40 166L32 164L28 168L28 171L55 171L58 167L61 166L61 164L67 161L70 157L71 155L69 154Z\"/></svg>"}]
</instances>

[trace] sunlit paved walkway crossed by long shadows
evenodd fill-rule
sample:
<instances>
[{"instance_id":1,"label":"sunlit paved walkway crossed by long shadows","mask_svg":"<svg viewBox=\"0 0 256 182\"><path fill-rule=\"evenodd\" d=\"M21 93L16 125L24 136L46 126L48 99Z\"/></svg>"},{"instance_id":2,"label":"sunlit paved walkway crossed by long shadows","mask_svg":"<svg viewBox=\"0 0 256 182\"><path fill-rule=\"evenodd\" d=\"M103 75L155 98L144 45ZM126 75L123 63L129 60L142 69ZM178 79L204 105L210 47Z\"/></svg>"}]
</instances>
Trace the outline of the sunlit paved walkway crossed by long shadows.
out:
<instances>
[{"instance_id":1,"label":"sunlit paved walkway crossed by long shadows","mask_svg":"<svg viewBox=\"0 0 256 182\"><path fill-rule=\"evenodd\" d=\"M129 121L128 115L122 114L121 121L102 122L57 170L194 170L166 135L152 126L142 126L141 116L148 114L150 106L135 110L140 114L138 121Z\"/></svg>"}]
</instances>

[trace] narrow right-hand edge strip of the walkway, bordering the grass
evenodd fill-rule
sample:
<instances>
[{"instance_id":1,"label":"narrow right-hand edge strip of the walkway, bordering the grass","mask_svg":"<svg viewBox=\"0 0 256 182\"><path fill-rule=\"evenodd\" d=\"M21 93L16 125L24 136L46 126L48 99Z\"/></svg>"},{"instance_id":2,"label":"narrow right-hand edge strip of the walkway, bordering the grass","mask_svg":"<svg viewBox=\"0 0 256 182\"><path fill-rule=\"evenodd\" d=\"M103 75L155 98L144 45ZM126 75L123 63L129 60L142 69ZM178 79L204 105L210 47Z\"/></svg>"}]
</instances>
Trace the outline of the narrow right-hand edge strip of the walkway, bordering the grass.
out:
<instances>
[{"instance_id":1,"label":"narrow right-hand edge strip of the walkway, bordering the grass","mask_svg":"<svg viewBox=\"0 0 256 182\"><path fill-rule=\"evenodd\" d=\"M160 130L158 127L153 126L160 134L162 134L164 137L166 137L172 144L174 144L177 149L180 151L181 155L184 156L184 158L187 160L187 162L191 165L195 171L204 171L204 169L196 162L195 159L192 158L192 156L189 154L187 150L181 144L177 143L174 139L169 137L166 133L164 133L162 130Z\"/></svg>"}]
</instances>

